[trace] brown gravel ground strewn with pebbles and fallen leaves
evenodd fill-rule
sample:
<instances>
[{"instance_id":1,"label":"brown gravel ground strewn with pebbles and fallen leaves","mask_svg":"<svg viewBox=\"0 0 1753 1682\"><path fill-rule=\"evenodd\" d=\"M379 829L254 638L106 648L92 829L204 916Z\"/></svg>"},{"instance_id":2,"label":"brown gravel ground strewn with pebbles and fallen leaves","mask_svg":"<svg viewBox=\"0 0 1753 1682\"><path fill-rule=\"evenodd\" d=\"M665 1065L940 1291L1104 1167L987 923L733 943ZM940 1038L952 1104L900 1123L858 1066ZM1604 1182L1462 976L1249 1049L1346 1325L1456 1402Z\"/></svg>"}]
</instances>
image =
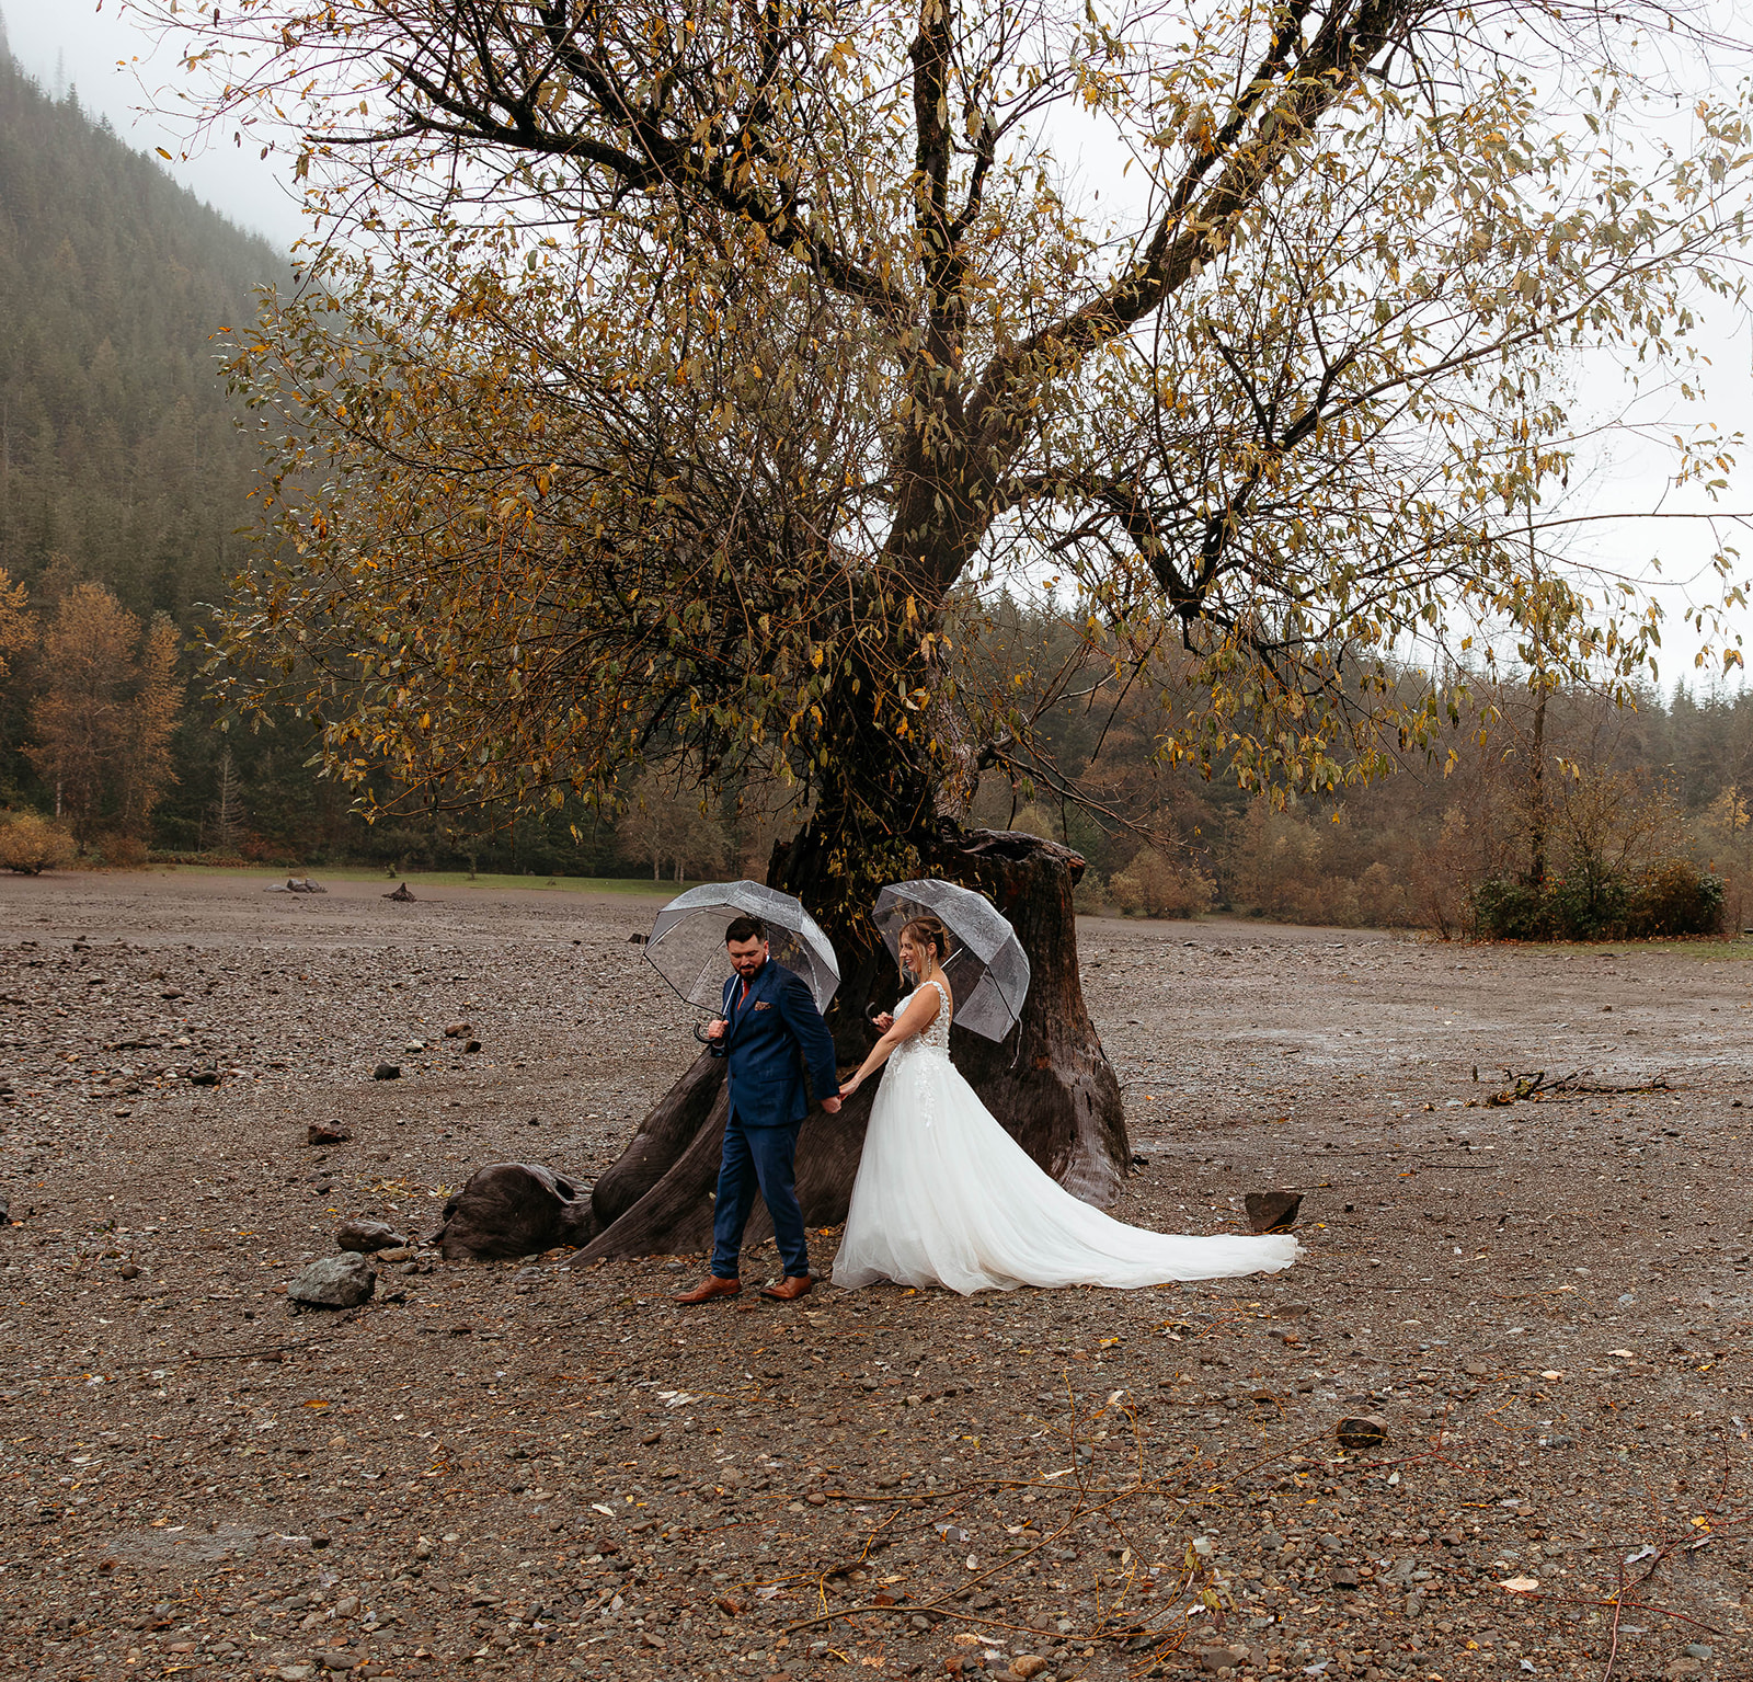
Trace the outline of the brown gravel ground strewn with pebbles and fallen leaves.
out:
<instances>
[{"instance_id":1,"label":"brown gravel ground strewn with pebbles and fallen leaves","mask_svg":"<svg viewBox=\"0 0 1753 1682\"><path fill-rule=\"evenodd\" d=\"M1117 1212L1301 1187L1269 1280L682 1310L699 1258L414 1247L295 1312L342 1217L614 1159L692 1052L650 914L0 882L0 1671L1753 1675L1753 942L1085 923ZM1579 1070L1639 1091L1487 1103Z\"/></svg>"}]
</instances>

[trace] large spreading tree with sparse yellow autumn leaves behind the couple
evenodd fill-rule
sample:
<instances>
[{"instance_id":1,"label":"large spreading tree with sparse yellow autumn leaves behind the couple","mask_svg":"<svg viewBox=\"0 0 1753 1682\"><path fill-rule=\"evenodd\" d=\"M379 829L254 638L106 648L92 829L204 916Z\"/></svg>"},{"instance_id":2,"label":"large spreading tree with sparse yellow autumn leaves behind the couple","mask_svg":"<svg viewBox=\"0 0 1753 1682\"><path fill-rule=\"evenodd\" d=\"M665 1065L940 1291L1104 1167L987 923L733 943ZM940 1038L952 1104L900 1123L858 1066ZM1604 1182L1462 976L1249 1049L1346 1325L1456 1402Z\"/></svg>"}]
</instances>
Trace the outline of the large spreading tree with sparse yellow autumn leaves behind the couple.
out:
<instances>
[{"instance_id":1,"label":"large spreading tree with sparse yellow autumn leaves behind the couple","mask_svg":"<svg viewBox=\"0 0 1753 1682\"><path fill-rule=\"evenodd\" d=\"M1068 579L1085 688L1155 686L1164 756L1259 788L1434 745L1464 644L1537 623L1546 672L1609 686L1650 651L1541 537L1597 421L1565 368L1690 379L1730 289L1748 125L1704 98L1693 153L1639 144L1641 14L137 9L188 32L212 130L291 146L328 240L235 365L277 451L240 693L431 805L608 802L654 758L791 786L770 879L841 945L848 1058L894 987L875 886L985 886L1036 986L1020 1045L959 1056L1087 1196L1125 1133L1078 863L957 824L983 770L1054 779L980 656L992 588ZM805 1135L813 1219L864 1114ZM703 1063L596 1187L600 1252L703 1233L720 1115Z\"/></svg>"}]
</instances>

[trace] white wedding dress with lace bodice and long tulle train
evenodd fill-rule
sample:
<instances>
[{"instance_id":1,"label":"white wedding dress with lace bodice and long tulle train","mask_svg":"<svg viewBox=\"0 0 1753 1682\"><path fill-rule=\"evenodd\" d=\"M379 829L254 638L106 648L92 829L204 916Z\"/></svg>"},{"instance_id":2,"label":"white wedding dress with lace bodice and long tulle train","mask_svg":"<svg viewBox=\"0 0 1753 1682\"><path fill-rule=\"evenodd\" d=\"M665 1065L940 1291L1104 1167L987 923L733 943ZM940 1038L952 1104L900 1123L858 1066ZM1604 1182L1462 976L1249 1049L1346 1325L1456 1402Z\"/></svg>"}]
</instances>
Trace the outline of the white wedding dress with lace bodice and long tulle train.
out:
<instances>
[{"instance_id":1,"label":"white wedding dress with lace bodice and long tulle train","mask_svg":"<svg viewBox=\"0 0 1753 1682\"><path fill-rule=\"evenodd\" d=\"M950 1061L950 996L891 1052L852 1184L834 1284L952 1291L1138 1286L1276 1273L1290 1237L1178 1238L1124 1226L1036 1168ZM910 1000L896 1005L896 1016Z\"/></svg>"}]
</instances>

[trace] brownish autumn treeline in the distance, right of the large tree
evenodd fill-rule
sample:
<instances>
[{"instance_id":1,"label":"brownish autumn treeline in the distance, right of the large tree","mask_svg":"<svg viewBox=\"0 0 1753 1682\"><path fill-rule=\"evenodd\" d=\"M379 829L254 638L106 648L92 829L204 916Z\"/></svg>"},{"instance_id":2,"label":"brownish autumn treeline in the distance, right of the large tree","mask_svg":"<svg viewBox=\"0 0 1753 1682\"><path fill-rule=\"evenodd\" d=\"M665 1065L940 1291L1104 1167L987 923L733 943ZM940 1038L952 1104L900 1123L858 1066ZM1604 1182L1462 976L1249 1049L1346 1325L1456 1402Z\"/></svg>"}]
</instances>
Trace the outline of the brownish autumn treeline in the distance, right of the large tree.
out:
<instances>
[{"instance_id":1,"label":"brownish autumn treeline in the distance, right of the large tree","mask_svg":"<svg viewBox=\"0 0 1753 1682\"><path fill-rule=\"evenodd\" d=\"M1006 605L987 661L1057 668L1075 633ZM1423 682L1408 672L1408 686ZM1082 902L1192 916L1595 938L1739 930L1753 921L1753 693L1632 707L1527 674L1467 681L1460 721L1364 788L1274 803L1222 775L1167 770L1157 702L1099 691L1040 719L1054 770L1108 817L1054 798L1052 779L985 777L973 816L1076 847ZM1485 740L1480 740L1481 726ZM1099 752L1097 752L1099 745Z\"/></svg>"}]
</instances>

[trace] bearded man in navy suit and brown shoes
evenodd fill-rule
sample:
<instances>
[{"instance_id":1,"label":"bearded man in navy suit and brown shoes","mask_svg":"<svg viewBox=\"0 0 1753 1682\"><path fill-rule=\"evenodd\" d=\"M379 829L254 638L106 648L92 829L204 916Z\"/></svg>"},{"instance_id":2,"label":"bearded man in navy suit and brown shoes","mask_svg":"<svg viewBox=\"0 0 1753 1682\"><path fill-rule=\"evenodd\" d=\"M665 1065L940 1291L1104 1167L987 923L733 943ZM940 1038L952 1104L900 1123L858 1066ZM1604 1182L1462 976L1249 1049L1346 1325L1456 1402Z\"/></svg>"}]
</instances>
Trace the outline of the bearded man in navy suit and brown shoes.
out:
<instances>
[{"instance_id":1,"label":"bearded man in navy suit and brown shoes","mask_svg":"<svg viewBox=\"0 0 1753 1682\"><path fill-rule=\"evenodd\" d=\"M731 1059L712 1273L677 1301L708 1303L742 1291L743 1226L759 1184L785 1265L785 1279L761 1294L789 1303L813 1284L794 1182L798 1126L810 1107L799 1052L810 1087L833 1115L840 1108L834 1042L803 980L768 959L766 930L756 917L736 917L724 931L724 947L736 973L724 984L722 1014L706 1028L712 1056Z\"/></svg>"}]
</instances>

